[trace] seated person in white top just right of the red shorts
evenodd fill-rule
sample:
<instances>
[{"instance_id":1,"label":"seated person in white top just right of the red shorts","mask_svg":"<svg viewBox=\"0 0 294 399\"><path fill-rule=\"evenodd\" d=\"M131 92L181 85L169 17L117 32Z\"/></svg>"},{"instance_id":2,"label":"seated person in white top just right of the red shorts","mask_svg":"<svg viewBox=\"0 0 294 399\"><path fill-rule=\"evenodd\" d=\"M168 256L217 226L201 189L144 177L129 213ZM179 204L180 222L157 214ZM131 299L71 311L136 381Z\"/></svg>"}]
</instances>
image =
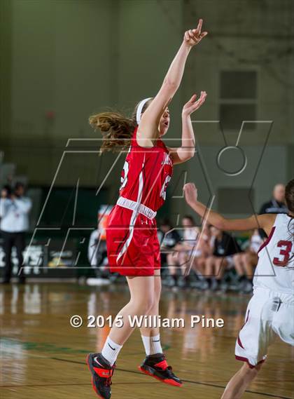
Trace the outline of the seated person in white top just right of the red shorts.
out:
<instances>
[{"instance_id":1,"label":"seated person in white top just right of the red shorts","mask_svg":"<svg viewBox=\"0 0 294 399\"><path fill-rule=\"evenodd\" d=\"M177 243L174 252L167 255L167 264L169 266L169 274L172 277L169 285L186 285L186 279L183 277L188 261L193 255L199 236L199 229L195 226L192 216L186 215L182 219L183 241ZM181 271L181 278L178 278L178 271Z\"/></svg>"}]
</instances>

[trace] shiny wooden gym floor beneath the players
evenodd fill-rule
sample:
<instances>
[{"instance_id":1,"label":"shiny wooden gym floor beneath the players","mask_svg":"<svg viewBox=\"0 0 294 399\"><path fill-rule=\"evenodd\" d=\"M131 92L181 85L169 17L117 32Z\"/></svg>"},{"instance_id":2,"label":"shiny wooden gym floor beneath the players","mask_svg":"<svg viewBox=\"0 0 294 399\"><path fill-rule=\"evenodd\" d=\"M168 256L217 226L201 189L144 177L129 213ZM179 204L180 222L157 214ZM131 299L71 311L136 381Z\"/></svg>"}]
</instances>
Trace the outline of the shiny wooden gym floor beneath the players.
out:
<instances>
[{"instance_id":1,"label":"shiny wooden gym floor beneath the players","mask_svg":"<svg viewBox=\"0 0 294 399\"><path fill-rule=\"evenodd\" d=\"M86 327L87 315L115 316L127 299L123 285L110 288L65 283L0 285L0 397L97 397L92 391L85 357L88 352L101 349L109 327ZM137 370L144 358L137 329L118 358L112 398L221 398L225 384L242 364L235 360L234 349L248 299L241 295L164 289L162 317L186 321L185 328L161 330L167 359L185 381L184 385L167 386ZM82 327L71 327L69 319L73 315L82 316ZM191 315L223 318L225 326L191 329ZM294 398L293 377L294 348L276 341L244 399Z\"/></svg>"}]
</instances>

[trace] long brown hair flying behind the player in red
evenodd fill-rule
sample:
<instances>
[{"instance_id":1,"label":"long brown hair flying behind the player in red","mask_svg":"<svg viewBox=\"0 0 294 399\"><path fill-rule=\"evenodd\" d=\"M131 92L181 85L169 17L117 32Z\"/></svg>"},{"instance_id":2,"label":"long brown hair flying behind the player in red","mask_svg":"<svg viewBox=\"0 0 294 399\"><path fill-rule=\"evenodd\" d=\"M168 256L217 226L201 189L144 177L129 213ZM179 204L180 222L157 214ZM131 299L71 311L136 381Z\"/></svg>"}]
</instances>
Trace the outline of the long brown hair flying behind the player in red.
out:
<instances>
[{"instance_id":1,"label":"long brown hair flying behind the player in red","mask_svg":"<svg viewBox=\"0 0 294 399\"><path fill-rule=\"evenodd\" d=\"M152 99L144 104L142 112L147 109L151 101ZM139 104L140 102L136 105L130 118L116 111L100 112L90 116L90 126L94 130L99 129L103 136L101 152L118 151L130 147L134 128L137 126L136 115Z\"/></svg>"}]
</instances>

